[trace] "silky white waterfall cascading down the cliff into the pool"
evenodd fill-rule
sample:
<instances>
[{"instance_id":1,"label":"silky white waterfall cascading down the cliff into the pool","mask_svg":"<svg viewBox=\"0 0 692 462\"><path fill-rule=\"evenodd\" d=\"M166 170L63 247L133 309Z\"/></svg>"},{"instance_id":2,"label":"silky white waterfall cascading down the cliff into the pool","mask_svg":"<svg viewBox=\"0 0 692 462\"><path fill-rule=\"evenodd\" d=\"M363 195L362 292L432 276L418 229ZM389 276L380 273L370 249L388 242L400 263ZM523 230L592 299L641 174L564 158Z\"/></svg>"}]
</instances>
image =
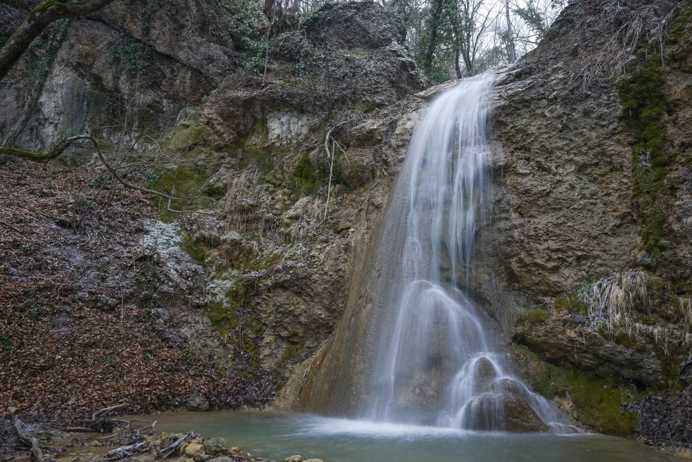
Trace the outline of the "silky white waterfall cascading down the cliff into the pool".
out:
<instances>
[{"instance_id":1,"label":"silky white waterfall cascading down the cliff into the pool","mask_svg":"<svg viewBox=\"0 0 692 462\"><path fill-rule=\"evenodd\" d=\"M370 420L462 429L575 432L545 398L514 377L486 338L468 283L488 165L493 74L441 94L417 126L385 217L388 287L372 368ZM401 198L405 199L401 199ZM397 226L392 220L406 220ZM388 229L399 230L388 233ZM530 414L528 427L509 414ZM523 420L531 420L522 416ZM520 419L521 420L521 419Z\"/></svg>"}]
</instances>

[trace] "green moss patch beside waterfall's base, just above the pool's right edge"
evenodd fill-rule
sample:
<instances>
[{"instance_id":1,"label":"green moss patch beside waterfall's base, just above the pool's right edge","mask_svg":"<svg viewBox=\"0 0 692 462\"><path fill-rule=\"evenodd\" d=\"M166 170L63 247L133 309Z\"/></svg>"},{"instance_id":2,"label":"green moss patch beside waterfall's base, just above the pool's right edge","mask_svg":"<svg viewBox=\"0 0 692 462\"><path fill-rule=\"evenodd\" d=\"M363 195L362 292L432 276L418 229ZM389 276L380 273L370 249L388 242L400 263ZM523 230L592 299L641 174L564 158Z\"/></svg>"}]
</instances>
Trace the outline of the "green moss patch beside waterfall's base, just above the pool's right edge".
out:
<instances>
[{"instance_id":1,"label":"green moss patch beside waterfall's base, just above the pool's right edge","mask_svg":"<svg viewBox=\"0 0 692 462\"><path fill-rule=\"evenodd\" d=\"M520 369L532 389L548 399L571 403L581 425L616 436L630 436L639 416L619 411L621 402L632 402L641 392L631 384L603 380L572 367L554 366L523 346L516 347Z\"/></svg>"}]
</instances>

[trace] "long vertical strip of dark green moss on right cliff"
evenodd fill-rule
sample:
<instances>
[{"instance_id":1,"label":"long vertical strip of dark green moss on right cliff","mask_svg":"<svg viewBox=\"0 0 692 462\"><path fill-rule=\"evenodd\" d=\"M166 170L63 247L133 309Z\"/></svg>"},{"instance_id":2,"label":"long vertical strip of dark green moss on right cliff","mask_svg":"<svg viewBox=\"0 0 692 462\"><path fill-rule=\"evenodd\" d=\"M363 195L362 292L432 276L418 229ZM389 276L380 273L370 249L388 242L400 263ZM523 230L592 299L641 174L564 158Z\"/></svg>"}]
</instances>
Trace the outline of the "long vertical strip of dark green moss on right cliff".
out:
<instances>
[{"instance_id":1,"label":"long vertical strip of dark green moss on right cliff","mask_svg":"<svg viewBox=\"0 0 692 462\"><path fill-rule=\"evenodd\" d=\"M654 257L661 255L668 188L666 176L671 160L666 153L668 109L664 94L664 75L657 55L632 67L618 84L624 116L632 132L632 201L639 211L644 249Z\"/></svg>"}]
</instances>

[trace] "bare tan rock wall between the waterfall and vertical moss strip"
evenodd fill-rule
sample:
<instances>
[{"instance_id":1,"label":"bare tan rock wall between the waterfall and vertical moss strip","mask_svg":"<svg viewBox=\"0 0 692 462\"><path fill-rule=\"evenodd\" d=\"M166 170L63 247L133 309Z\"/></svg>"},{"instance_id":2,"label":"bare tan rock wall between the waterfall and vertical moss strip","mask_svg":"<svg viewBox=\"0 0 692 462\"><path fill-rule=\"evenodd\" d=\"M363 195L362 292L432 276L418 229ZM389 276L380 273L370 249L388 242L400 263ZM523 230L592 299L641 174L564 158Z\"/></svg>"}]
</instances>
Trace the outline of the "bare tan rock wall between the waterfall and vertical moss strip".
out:
<instances>
[{"instance_id":1,"label":"bare tan rock wall between the waterfall and vertical moss strip","mask_svg":"<svg viewBox=\"0 0 692 462\"><path fill-rule=\"evenodd\" d=\"M577 26L585 21L586 3L568 6L545 42L498 76L490 233L504 280L536 299L644 256L617 87L578 77L600 46L599 30Z\"/></svg>"}]
</instances>

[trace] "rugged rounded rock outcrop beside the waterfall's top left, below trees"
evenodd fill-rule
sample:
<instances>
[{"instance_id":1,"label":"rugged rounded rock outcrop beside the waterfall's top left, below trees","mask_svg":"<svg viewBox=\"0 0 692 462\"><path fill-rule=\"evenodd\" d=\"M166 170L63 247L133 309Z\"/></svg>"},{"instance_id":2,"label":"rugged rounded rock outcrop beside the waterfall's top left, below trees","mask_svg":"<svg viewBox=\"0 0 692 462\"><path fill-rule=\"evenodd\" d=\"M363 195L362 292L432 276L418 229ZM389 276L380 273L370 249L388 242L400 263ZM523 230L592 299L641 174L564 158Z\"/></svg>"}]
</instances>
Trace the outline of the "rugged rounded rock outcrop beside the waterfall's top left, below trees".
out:
<instances>
[{"instance_id":1,"label":"rugged rounded rock outcrop beside the waterfall's top left, below trees","mask_svg":"<svg viewBox=\"0 0 692 462\"><path fill-rule=\"evenodd\" d=\"M403 48L406 31L372 2L329 4L303 33L273 39L264 87L229 75L202 105L201 114L229 143L266 125L268 139L297 141L348 104L372 112L423 88Z\"/></svg>"}]
</instances>

